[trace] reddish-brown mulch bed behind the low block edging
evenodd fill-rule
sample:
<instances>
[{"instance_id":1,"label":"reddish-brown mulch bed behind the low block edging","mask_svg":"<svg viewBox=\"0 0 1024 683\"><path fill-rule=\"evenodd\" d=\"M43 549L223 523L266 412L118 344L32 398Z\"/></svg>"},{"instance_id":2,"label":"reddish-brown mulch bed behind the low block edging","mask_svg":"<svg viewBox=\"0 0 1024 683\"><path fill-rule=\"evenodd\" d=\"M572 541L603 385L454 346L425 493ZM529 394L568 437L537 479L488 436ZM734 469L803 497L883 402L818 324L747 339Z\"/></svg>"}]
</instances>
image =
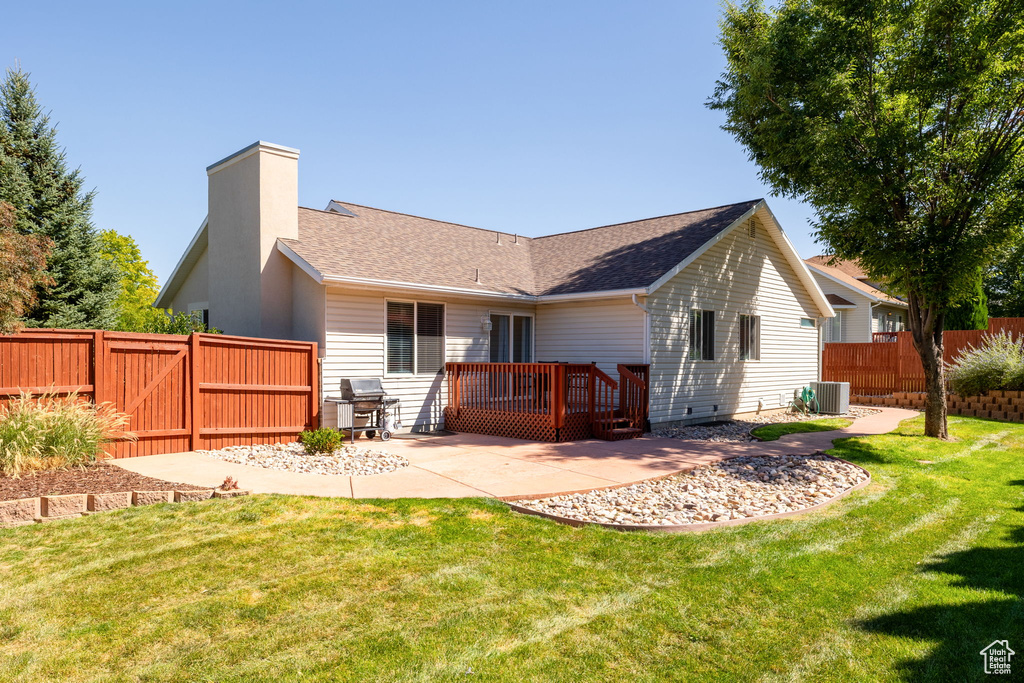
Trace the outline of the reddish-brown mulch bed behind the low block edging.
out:
<instances>
[{"instance_id":1,"label":"reddish-brown mulch bed behind the low block edging","mask_svg":"<svg viewBox=\"0 0 1024 683\"><path fill-rule=\"evenodd\" d=\"M142 476L116 465L96 463L67 470L27 472L17 478L0 474L0 501L65 494L114 494L124 490L201 490L215 488L217 483L219 482L211 483L209 486L194 486Z\"/></svg>"}]
</instances>

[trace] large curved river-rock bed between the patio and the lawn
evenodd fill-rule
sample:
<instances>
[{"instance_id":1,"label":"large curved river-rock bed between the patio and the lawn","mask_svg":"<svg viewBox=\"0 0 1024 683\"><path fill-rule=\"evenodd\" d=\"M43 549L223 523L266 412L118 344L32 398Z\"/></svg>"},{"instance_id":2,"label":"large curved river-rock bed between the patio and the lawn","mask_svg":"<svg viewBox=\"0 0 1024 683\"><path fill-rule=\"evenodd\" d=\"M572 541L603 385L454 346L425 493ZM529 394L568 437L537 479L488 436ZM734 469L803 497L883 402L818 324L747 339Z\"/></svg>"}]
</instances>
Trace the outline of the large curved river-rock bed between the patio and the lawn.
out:
<instances>
[{"instance_id":1,"label":"large curved river-rock bed between the patio and the lawn","mask_svg":"<svg viewBox=\"0 0 1024 683\"><path fill-rule=\"evenodd\" d=\"M757 456L618 488L513 504L587 522L682 525L794 512L866 479L859 467L820 453Z\"/></svg>"}]
</instances>

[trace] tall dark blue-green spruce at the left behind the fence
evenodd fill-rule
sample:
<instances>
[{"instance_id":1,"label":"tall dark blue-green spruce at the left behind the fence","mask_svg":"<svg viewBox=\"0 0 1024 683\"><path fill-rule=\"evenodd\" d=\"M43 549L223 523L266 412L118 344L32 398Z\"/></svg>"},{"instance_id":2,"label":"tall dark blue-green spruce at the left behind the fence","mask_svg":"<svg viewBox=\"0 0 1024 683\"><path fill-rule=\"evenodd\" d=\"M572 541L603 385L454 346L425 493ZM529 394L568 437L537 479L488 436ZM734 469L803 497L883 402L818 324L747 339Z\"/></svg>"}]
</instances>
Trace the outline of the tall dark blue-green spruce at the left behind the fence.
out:
<instances>
[{"instance_id":1,"label":"tall dark blue-green spruce at the left behind the fence","mask_svg":"<svg viewBox=\"0 0 1024 683\"><path fill-rule=\"evenodd\" d=\"M33 327L108 328L114 324L118 279L100 256L91 223L92 193L68 169L56 128L36 101L29 75L8 70L0 84L0 201L14 207L15 229L52 243L49 288L26 323Z\"/></svg>"}]
</instances>

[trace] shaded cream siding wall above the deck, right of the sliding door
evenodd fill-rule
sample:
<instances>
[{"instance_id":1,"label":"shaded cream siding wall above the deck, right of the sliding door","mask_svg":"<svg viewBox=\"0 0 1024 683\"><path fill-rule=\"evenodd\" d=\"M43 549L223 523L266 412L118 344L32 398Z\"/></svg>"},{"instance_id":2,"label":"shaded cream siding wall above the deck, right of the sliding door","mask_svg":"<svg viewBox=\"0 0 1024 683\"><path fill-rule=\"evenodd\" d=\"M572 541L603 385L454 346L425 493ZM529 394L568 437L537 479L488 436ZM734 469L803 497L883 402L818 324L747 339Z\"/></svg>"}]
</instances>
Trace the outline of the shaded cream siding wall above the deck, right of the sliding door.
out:
<instances>
[{"instance_id":1,"label":"shaded cream siding wall above the deck, right of the sliding door","mask_svg":"<svg viewBox=\"0 0 1024 683\"><path fill-rule=\"evenodd\" d=\"M617 380L620 362L644 362L644 312L629 297L537 307L539 362L596 362Z\"/></svg>"}]
</instances>

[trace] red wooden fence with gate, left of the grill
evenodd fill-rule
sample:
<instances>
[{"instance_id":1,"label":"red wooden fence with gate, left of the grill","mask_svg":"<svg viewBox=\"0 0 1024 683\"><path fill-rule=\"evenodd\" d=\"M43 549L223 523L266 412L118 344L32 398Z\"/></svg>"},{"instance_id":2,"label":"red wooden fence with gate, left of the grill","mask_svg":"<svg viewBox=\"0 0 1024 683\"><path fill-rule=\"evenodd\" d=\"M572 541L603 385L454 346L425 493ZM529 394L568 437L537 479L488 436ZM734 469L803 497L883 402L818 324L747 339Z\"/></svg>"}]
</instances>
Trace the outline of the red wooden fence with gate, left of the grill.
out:
<instances>
[{"instance_id":1,"label":"red wooden fence with gate, left of the grill","mask_svg":"<svg viewBox=\"0 0 1024 683\"><path fill-rule=\"evenodd\" d=\"M0 401L78 391L130 418L115 458L291 441L319 419L316 344L225 335L29 330L0 336Z\"/></svg>"}]
</instances>

